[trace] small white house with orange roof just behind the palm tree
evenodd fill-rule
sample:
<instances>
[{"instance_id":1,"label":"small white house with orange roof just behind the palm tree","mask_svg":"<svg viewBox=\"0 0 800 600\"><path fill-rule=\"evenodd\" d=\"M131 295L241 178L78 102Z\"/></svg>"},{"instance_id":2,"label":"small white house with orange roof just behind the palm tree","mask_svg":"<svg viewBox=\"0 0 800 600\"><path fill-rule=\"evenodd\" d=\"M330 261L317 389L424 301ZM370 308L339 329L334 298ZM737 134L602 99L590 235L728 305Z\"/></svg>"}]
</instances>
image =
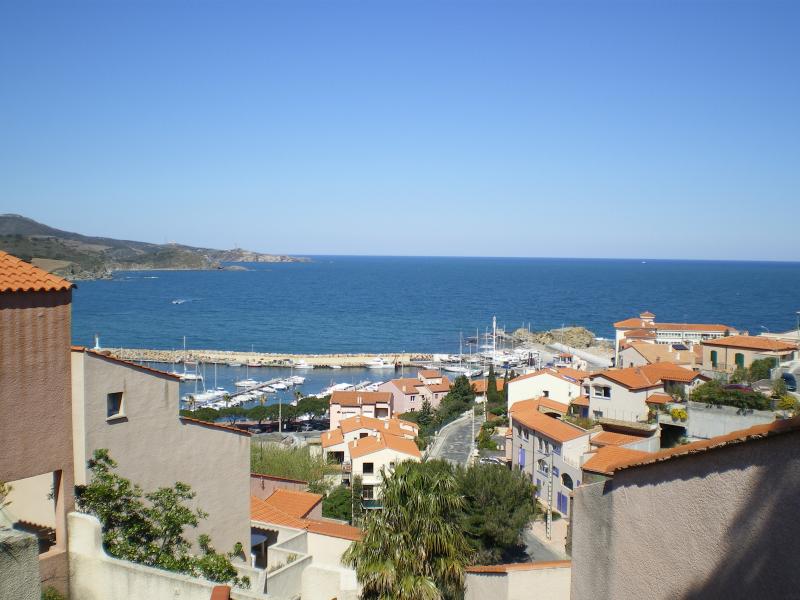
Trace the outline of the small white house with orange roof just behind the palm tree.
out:
<instances>
[{"instance_id":1,"label":"small white house with orange roof just behind the palm tree","mask_svg":"<svg viewBox=\"0 0 800 600\"><path fill-rule=\"evenodd\" d=\"M377 508L380 501L381 471L394 471L404 460L420 462L422 453L416 442L405 437L378 433L353 440L347 445L350 464L345 463L346 481L360 476L365 508Z\"/></svg>"}]
</instances>

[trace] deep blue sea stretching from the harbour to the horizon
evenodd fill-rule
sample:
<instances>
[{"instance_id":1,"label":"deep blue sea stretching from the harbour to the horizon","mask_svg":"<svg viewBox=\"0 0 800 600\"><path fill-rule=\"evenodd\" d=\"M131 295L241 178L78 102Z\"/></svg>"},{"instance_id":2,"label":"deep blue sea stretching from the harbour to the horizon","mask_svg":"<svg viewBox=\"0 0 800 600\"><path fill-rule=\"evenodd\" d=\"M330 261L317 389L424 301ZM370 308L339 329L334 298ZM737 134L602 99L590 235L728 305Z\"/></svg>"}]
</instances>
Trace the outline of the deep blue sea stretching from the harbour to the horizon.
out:
<instances>
[{"instance_id":1,"label":"deep blue sea stretching from the harbour to the horizon","mask_svg":"<svg viewBox=\"0 0 800 600\"><path fill-rule=\"evenodd\" d=\"M79 282L73 342L92 346L98 334L104 347L179 349L186 336L196 349L451 353L494 316L506 331L582 325L613 338L614 321L644 310L753 334L793 329L800 311L797 262L313 256L240 266ZM309 393L376 378L316 371ZM226 369L223 384L240 375Z\"/></svg>"}]
</instances>

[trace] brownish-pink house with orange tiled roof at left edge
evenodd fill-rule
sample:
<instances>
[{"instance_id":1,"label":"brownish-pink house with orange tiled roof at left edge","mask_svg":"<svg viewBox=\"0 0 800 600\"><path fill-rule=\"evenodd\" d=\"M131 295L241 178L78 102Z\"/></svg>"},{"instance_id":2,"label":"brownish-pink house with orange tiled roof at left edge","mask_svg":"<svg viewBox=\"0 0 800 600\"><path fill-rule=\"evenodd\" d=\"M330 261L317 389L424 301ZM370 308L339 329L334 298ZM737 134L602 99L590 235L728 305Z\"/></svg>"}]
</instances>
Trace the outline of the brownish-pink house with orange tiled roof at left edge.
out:
<instances>
[{"instance_id":1,"label":"brownish-pink house with orange tiled roof at left edge","mask_svg":"<svg viewBox=\"0 0 800 600\"><path fill-rule=\"evenodd\" d=\"M70 321L73 284L0 251L0 526L38 538L44 586L67 593L73 510ZM0 577L2 577L0 575Z\"/></svg>"}]
</instances>

